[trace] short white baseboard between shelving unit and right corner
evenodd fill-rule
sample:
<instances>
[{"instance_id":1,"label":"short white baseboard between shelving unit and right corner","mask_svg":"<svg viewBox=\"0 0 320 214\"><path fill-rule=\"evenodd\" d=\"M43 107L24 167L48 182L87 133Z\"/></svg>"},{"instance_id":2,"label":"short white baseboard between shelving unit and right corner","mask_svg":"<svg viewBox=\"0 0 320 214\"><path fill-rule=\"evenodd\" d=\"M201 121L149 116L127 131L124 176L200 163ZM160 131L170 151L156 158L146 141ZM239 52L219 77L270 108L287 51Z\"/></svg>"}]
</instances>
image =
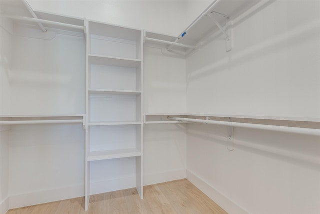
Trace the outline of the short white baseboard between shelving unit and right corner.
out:
<instances>
[{"instance_id":1,"label":"short white baseboard between shelving unit and right corner","mask_svg":"<svg viewBox=\"0 0 320 214\"><path fill-rule=\"evenodd\" d=\"M174 169L160 173L147 173L143 175L143 186L182 179L186 177L185 175L185 168Z\"/></svg>"}]
</instances>

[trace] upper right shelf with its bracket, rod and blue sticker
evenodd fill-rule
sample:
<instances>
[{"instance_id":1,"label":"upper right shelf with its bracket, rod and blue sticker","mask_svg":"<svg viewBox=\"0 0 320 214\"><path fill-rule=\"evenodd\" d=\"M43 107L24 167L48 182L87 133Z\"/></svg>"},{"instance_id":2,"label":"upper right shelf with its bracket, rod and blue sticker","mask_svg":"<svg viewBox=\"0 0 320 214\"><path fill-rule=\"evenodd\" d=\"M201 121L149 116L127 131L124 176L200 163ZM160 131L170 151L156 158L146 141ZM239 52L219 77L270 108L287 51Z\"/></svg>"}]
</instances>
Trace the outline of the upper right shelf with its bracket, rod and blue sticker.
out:
<instances>
[{"instance_id":1,"label":"upper right shelf with its bracket, rod and blue sticker","mask_svg":"<svg viewBox=\"0 0 320 214\"><path fill-rule=\"evenodd\" d=\"M192 50L199 47L200 42L217 31L221 31L227 37L226 23L235 19L245 11L255 6L260 1L252 0L214 0L178 37L160 36L159 34L146 32L145 42L151 44L165 44L168 49ZM231 38L228 35L228 40ZM184 47L182 46L184 45ZM231 50L227 48L227 51Z\"/></svg>"}]
</instances>

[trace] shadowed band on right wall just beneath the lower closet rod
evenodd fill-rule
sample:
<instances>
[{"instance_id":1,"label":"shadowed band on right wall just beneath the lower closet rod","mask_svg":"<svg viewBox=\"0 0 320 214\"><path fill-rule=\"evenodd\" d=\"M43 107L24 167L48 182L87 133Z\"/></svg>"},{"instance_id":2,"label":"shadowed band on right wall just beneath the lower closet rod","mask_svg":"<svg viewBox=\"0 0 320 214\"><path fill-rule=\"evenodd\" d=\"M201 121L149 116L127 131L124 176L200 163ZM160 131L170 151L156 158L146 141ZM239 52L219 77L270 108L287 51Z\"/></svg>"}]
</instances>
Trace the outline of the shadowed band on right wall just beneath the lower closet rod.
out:
<instances>
[{"instance_id":1,"label":"shadowed band on right wall just beneath the lower closet rod","mask_svg":"<svg viewBox=\"0 0 320 214\"><path fill-rule=\"evenodd\" d=\"M187 126L188 136L201 139L199 142L202 143L225 146L227 151L227 127L211 124ZM234 150L229 152L247 151L320 171L318 136L234 128L233 140Z\"/></svg>"}]
</instances>

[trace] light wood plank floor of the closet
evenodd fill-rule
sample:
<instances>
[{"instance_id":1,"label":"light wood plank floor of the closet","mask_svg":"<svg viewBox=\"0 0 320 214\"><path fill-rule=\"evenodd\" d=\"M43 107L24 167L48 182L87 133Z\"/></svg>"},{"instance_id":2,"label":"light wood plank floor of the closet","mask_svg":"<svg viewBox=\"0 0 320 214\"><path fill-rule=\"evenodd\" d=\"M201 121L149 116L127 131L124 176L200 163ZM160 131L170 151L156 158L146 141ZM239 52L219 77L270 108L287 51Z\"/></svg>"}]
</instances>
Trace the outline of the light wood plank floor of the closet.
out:
<instances>
[{"instance_id":1,"label":"light wood plank floor of the closet","mask_svg":"<svg viewBox=\"0 0 320 214\"><path fill-rule=\"evenodd\" d=\"M7 214L208 214L226 212L186 179L143 187L143 200L135 188L90 196L84 211L84 197L10 209Z\"/></svg>"}]
</instances>

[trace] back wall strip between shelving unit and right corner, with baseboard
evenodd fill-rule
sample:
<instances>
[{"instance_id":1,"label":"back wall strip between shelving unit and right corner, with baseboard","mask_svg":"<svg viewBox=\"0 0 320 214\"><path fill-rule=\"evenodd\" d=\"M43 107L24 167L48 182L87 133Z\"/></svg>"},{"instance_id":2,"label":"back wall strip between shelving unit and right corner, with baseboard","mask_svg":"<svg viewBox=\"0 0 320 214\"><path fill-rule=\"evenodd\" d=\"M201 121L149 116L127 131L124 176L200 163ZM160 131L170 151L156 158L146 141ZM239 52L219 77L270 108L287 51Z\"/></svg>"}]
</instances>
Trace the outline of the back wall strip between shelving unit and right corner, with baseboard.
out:
<instances>
[{"instance_id":1,"label":"back wall strip between shelving unit and right corner, with baseboard","mask_svg":"<svg viewBox=\"0 0 320 214\"><path fill-rule=\"evenodd\" d=\"M185 112L185 59L167 54L144 45L144 113ZM182 125L144 125L143 185L185 178L185 131Z\"/></svg>"}]
</instances>

